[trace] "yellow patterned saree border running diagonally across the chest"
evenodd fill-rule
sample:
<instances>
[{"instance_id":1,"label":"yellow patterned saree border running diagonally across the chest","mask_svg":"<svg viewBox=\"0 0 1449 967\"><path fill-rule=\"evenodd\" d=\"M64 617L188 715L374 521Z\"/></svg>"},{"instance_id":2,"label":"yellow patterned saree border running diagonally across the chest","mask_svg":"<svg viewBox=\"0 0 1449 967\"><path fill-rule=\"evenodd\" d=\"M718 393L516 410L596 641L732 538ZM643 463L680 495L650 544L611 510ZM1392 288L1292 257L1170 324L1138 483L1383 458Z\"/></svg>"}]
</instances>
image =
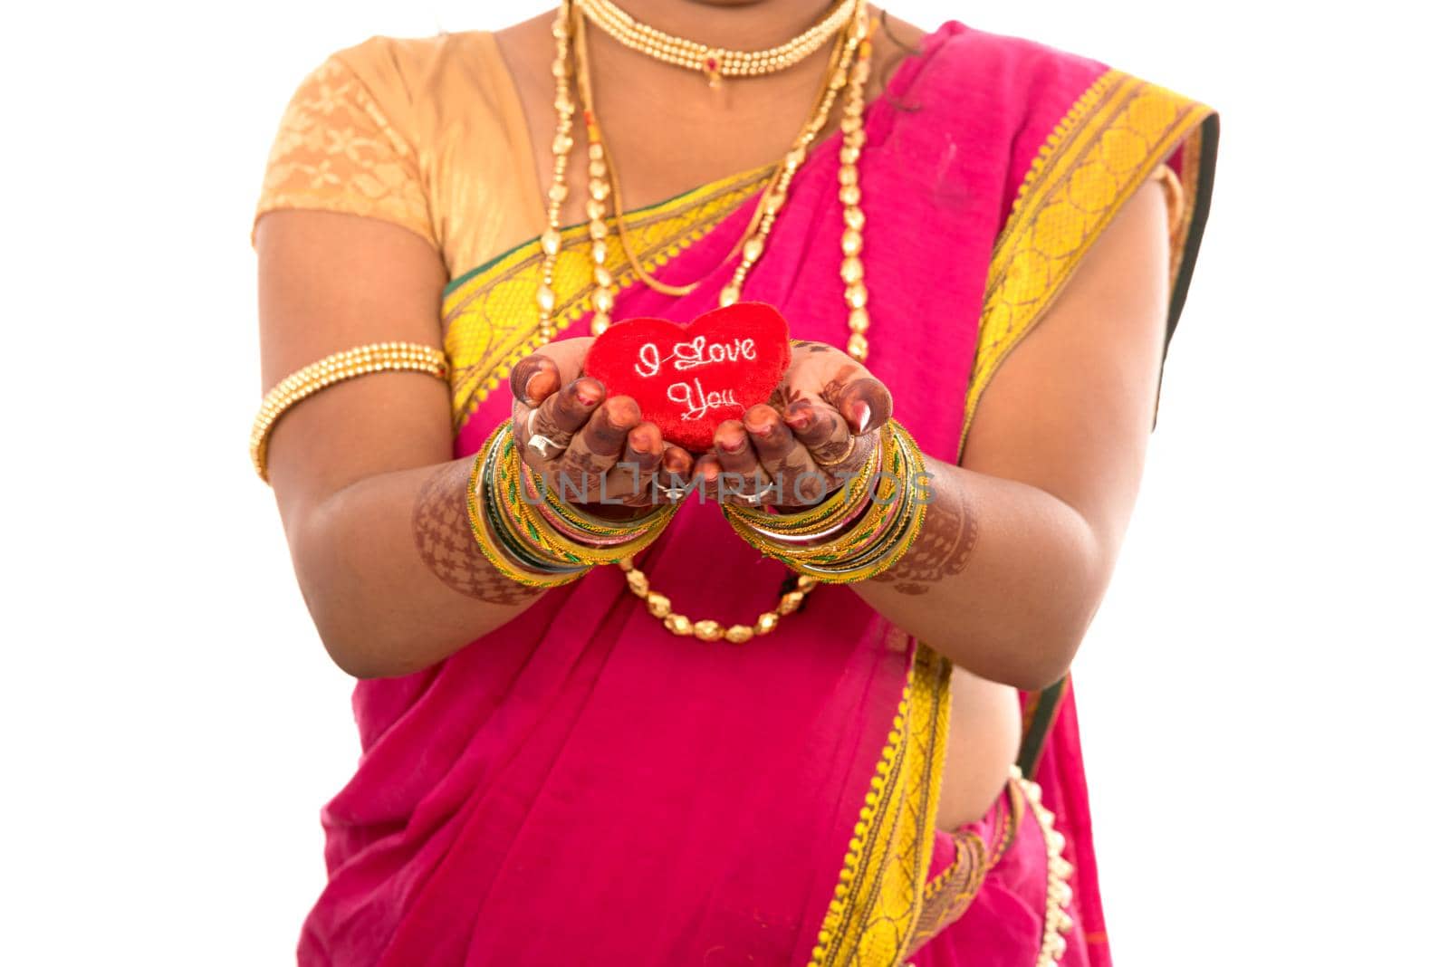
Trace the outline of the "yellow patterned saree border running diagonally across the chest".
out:
<instances>
[{"instance_id":1,"label":"yellow patterned saree border running diagonally across the chest","mask_svg":"<svg viewBox=\"0 0 1449 967\"><path fill-rule=\"evenodd\" d=\"M625 214L625 224L639 261L659 268L724 220L758 193L772 166L756 168L687 191L648 208ZM614 294L639 279L616 233L610 233L607 266ZM558 332L562 334L588 311L594 265L587 224L564 230L564 245L554 269L558 292ZM543 342L538 336L535 292L542 281L543 249L530 239L448 285L442 304L443 350L452 365L454 433L488 394L507 378L514 363Z\"/></svg>"}]
</instances>

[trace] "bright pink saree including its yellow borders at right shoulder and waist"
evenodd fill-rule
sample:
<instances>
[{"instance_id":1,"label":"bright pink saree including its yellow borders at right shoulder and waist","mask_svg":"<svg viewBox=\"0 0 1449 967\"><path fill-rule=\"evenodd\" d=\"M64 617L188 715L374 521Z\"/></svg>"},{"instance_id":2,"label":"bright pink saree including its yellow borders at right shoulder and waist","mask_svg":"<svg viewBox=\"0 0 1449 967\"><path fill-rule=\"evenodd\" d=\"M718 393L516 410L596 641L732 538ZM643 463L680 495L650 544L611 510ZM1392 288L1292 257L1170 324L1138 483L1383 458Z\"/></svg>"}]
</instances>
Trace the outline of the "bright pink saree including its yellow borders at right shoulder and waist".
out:
<instances>
[{"instance_id":1,"label":"bright pink saree including its yellow borders at right shoulder and waist","mask_svg":"<svg viewBox=\"0 0 1449 967\"><path fill-rule=\"evenodd\" d=\"M1103 64L948 23L867 114L871 369L926 453L959 460L981 392L1122 203L1161 165L1184 188L1172 318L1207 214L1216 116ZM796 180L746 300L843 346L835 138ZM696 278L749 206L661 275ZM538 243L517 253L536 263ZM449 287L445 326L496 292ZM616 316L688 320L694 295L629 285ZM587 333L580 308L569 332ZM930 362L932 379L920 378ZM942 405L956 401L959 405ZM456 453L504 418L464 413ZM642 559L675 611L752 622L785 570L714 507ZM849 588L746 646L671 635L617 569L545 595L417 675L359 682L362 759L323 812L329 882L304 966L1036 963L1045 845L1010 785L936 829L949 666ZM1074 863L1062 963L1110 963L1069 689L1024 695L1023 769Z\"/></svg>"}]
</instances>

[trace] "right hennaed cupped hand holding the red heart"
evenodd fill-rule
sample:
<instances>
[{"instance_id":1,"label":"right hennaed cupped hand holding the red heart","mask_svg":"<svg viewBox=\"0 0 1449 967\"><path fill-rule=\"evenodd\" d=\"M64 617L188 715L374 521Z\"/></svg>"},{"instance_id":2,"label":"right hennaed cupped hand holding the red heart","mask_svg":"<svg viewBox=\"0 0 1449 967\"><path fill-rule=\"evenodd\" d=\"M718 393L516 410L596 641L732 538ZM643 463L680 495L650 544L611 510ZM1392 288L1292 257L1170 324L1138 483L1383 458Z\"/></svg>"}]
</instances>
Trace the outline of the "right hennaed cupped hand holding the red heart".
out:
<instances>
[{"instance_id":1,"label":"right hennaed cupped hand holding the red heart","mask_svg":"<svg viewBox=\"0 0 1449 967\"><path fill-rule=\"evenodd\" d=\"M726 420L696 481L738 507L809 507L861 472L891 418L891 394L826 343L797 342L768 404Z\"/></svg>"}]
</instances>

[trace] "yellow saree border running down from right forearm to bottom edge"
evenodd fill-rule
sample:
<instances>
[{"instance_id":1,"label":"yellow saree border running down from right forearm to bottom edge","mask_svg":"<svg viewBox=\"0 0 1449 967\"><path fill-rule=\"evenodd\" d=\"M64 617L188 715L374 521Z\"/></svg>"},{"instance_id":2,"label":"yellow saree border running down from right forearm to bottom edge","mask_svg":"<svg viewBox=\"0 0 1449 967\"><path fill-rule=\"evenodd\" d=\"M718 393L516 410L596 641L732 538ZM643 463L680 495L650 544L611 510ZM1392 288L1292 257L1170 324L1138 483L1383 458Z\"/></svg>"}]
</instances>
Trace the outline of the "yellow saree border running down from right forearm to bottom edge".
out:
<instances>
[{"instance_id":1,"label":"yellow saree border running down from right forearm to bottom edge","mask_svg":"<svg viewBox=\"0 0 1449 967\"><path fill-rule=\"evenodd\" d=\"M951 724L951 663L916 646L811 967L894 964L920 918Z\"/></svg>"}]
</instances>

